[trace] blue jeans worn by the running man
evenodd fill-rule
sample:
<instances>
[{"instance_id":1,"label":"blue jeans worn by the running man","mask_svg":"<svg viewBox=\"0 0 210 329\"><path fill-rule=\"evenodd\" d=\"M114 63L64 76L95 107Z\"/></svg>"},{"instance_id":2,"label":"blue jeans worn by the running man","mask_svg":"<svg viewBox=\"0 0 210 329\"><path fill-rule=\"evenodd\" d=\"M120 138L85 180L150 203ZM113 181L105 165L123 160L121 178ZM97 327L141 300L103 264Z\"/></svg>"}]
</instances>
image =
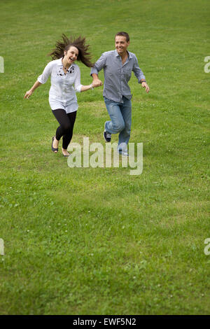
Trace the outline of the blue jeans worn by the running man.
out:
<instances>
[{"instance_id":1,"label":"blue jeans worn by the running man","mask_svg":"<svg viewBox=\"0 0 210 329\"><path fill-rule=\"evenodd\" d=\"M110 134L119 134L118 149L127 150L132 123L132 102L123 96L123 103L113 102L104 97L106 109L111 121L106 121L105 130Z\"/></svg>"}]
</instances>

